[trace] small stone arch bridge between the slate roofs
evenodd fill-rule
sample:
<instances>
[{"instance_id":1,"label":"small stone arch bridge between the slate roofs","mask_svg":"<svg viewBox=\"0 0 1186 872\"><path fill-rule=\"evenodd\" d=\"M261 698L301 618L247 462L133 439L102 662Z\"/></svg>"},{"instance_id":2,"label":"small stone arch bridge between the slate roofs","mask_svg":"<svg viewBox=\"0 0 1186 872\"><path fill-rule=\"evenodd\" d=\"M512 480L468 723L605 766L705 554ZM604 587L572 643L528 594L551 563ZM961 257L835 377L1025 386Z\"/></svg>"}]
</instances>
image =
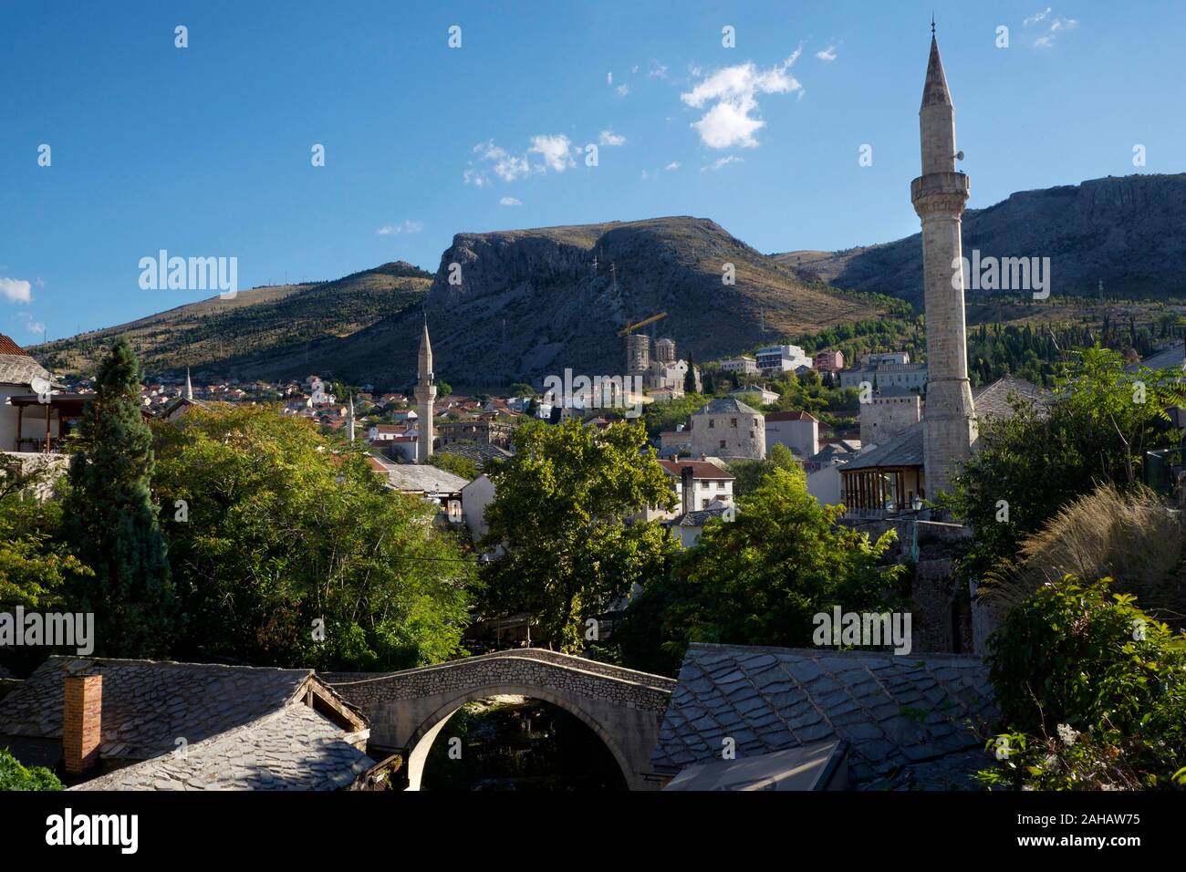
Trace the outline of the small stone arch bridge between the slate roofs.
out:
<instances>
[{"instance_id":1,"label":"small stone arch bridge between the slate roofs","mask_svg":"<svg viewBox=\"0 0 1186 872\"><path fill-rule=\"evenodd\" d=\"M514 694L550 702L605 743L631 790L657 790L650 768L675 681L540 648L496 651L398 673L324 673L370 719L372 745L404 753L419 790L428 749L466 702Z\"/></svg>"}]
</instances>

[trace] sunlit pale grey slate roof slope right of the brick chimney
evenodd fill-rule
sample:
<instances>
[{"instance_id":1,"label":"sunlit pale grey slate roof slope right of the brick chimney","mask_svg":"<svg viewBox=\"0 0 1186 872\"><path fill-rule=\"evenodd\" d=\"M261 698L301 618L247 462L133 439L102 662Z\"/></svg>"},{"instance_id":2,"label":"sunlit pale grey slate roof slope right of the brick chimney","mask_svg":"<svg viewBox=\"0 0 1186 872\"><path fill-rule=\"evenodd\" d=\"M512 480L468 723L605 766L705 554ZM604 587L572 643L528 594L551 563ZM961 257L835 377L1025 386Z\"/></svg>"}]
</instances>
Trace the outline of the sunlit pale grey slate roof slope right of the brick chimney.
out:
<instances>
[{"instance_id":1,"label":"sunlit pale grey slate roof slope right of the brick chimney","mask_svg":"<svg viewBox=\"0 0 1186 872\"><path fill-rule=\"evenodd\" d=\"M375 765L344 736L312 708L294 702L191 744L184 753L166 753L71 789L339 790Z\"/></svg>"}]
</instances>

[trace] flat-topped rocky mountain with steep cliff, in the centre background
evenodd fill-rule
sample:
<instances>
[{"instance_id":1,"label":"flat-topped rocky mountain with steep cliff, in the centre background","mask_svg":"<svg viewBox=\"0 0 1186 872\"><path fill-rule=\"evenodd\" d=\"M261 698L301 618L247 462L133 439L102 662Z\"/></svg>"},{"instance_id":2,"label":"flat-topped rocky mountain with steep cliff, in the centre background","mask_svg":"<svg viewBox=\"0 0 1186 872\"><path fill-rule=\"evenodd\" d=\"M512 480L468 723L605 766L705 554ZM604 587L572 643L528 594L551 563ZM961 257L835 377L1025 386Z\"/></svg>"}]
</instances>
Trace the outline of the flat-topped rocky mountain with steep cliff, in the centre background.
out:
<instances>
[{"instance_id":1,"label":"flat-topped rocky mountain with steep cliff, in the centre background","mask_svg":"<svg viewBox=\"0 0 1186 872\"><path fill-rule=\"evenodd\" d=\"M726 265L734 285L722 282ZM655 325L656 336L704 361L876 318L885 303L805 280L704 218L458 234L423 306L345 338L228 364L251 377L332 370L355 383L406 387L415 380L427 314L439 378L465 389L538 383L565 368L620 375L618 331L658 312L668 317Z\"/></svg>"}]
</instances>

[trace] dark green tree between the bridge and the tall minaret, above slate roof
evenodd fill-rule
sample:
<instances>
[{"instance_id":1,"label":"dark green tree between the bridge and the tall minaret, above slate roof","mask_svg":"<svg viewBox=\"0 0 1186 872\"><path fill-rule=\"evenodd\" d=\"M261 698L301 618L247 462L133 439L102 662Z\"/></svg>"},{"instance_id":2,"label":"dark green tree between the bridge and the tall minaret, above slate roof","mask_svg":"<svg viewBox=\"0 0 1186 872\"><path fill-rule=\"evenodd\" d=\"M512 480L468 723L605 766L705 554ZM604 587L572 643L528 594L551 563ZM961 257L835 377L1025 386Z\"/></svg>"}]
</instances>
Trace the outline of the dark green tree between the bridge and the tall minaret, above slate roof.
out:
<instances>
[{"instance_id":1,"label":"dark green tree between the bridge and the tall minaret, above slate roof","mask_svg":"<svg viewBox=\"0 0 1186 872\"><path fill-rule=\"evenodd\" d=\"M836 523L799 467L772 470L735 517L710 520L669 577L648 586L614 637L623 662L675 674L690 642L809 645L812 617L885 611L897 604L904 567L881 566L893 534L875 542Z\"/></svg>"}]
</instances>

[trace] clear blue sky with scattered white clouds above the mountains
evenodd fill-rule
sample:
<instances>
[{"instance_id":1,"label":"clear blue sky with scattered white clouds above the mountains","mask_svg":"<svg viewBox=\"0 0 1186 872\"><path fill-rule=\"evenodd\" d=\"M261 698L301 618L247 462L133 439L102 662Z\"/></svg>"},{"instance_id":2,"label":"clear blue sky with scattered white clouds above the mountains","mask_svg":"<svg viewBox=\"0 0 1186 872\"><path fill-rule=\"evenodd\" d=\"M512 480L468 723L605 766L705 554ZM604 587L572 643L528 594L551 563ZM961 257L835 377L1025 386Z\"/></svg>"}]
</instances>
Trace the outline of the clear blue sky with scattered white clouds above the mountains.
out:
<instances>
[{"instance_id":1,"label":"clear blue sky with scattered white clouds above the mountains","mask_svg":"<svg viewBox=\"0 0 1186 872\"><path fill-rule=\"evenodd\" d=\"M247 288L662 215L763 252L908 235L932 8L970 205L1184 168L1180 2L4 0L0 331L209 297L139 287L161 248Z\"/></svg>"}]
</instances>

